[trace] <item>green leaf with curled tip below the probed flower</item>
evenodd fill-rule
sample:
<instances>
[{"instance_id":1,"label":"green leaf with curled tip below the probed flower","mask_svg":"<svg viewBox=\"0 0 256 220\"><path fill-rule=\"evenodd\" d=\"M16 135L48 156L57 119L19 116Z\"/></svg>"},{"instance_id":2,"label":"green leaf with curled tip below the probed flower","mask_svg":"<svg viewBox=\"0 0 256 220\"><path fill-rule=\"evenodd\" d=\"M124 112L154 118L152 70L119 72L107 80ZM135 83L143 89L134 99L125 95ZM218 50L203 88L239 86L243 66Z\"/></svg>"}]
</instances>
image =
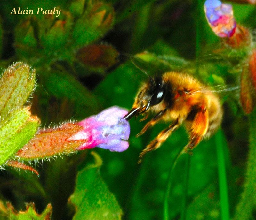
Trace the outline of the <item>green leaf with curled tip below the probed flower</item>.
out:
<instances>
[{"instance_id":1,"label":"green leaf with curled tip below the probed flower","mask_svg":"<svg viewBox=\"0 0 256 220\"><path fill-rule=\"evenodd\" d=\"M70 197L76 207L73 219L121 219L122 210L100 176L102 160L92 154L95 163L78 172L75 192Z\"/></svg>"}]
</instances>

